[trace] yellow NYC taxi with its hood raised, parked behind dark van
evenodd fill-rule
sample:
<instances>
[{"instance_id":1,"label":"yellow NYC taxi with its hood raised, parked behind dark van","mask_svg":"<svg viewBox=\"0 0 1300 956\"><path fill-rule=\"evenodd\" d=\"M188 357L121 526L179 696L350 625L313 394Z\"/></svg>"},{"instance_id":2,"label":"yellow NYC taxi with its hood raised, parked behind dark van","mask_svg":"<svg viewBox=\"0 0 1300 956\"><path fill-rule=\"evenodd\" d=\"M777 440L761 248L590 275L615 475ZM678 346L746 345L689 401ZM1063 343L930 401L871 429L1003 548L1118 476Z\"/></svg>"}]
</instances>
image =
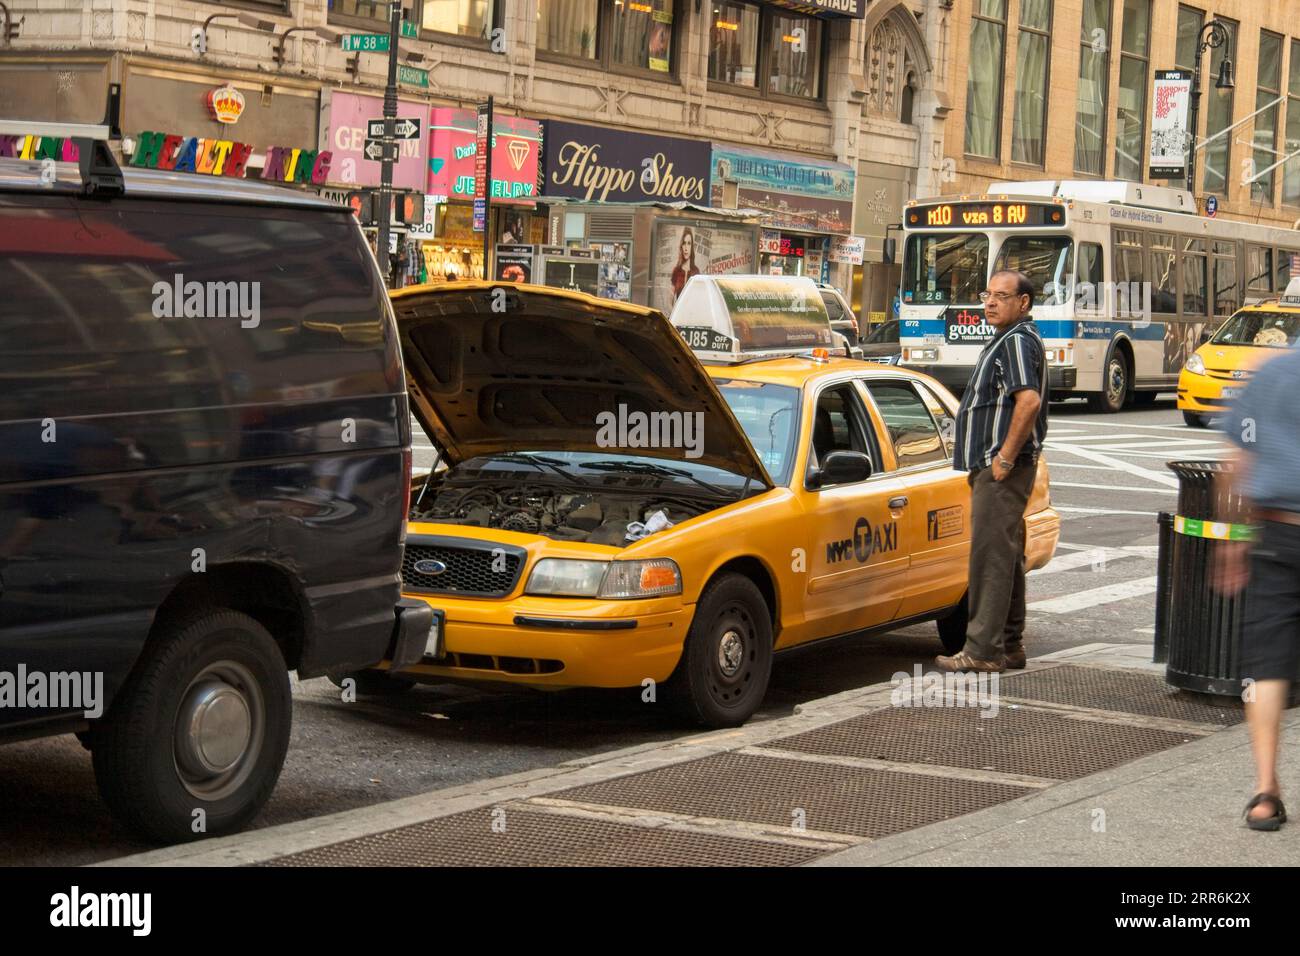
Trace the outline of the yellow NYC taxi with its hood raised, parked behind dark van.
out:
<instances>
[{"instance_id":1,"label":"yellow NYC taxi with its hood raised, parked behind dark van","mask_svg":"<svg viewBox=\"0 0 1300 956\"><path fill-rule=\"evenodd\" d=\"M654 688L734 726L776 652L923 620L961 646L970 490L933 380L824 354L706 368L662 312L541 286L391 298L441 455L403 561L436 628L372 685ZM1040 463L1028 567L1058 528Z\"/></svg>"}]
</instances>

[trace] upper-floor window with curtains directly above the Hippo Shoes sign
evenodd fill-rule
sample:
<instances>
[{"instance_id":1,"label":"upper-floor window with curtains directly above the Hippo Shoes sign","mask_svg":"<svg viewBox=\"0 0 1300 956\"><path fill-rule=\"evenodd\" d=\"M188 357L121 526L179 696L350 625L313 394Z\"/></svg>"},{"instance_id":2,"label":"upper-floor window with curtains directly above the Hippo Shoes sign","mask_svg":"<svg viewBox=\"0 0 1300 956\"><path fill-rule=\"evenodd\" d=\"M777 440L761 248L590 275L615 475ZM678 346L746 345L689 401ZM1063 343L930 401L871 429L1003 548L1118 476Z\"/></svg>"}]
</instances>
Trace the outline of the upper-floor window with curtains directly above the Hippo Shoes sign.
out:
<instances>
[{"instance_id":1,"label":"upper-floor window with curtains directly above the Hippo Shoes sign","mask_svg":"<svg viewBox=\"0 0 1300 956\"><path fill-rule=\"evenodd\" d=\"M542 0L537 49L606 69L671 73L673 0Z\"/></svg>"}]
</instances>

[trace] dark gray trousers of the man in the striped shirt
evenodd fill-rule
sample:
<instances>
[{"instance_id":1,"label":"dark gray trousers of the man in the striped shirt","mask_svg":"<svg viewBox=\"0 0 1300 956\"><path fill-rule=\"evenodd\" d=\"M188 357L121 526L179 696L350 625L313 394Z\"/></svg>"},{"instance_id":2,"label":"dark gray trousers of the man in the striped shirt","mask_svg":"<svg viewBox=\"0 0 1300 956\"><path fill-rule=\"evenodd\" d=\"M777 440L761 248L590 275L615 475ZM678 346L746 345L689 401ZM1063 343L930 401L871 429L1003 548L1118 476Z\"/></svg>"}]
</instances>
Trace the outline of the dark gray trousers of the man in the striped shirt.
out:
<instances>
[{"instance_id":1,"label":"dark gray trousers of the man in the striped shirt","mask_svg":"<svg viewBox=\"0 0 1300 956\"><path fill-rule=\"evenodd\" d=\"M1024 507L1036 467L1017 462L993 480L992 468L967 479L971 486L971 559L966 653L996 661L1024 633Z\"/></svg>"}]
</instances>

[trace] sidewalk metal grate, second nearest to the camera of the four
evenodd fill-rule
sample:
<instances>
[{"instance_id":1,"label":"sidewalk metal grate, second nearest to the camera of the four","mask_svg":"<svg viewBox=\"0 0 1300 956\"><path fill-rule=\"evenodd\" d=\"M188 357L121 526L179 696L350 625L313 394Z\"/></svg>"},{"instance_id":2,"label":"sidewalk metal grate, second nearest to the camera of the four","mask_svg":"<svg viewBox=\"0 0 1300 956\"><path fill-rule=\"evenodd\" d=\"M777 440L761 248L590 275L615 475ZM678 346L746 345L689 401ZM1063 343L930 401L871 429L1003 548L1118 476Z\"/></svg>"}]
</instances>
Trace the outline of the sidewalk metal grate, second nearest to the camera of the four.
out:
<instances>
[{"instance_id":1,"label":"sidewalk metal grate, second nearest to the camera of the four","mask_svg":"<svg viewBox=\"0 0 1300 956\"><path fill-rule=\"evenodd\" d=\"M1031 792L1005 783L720 753L550 796L854 836L887 836Z\"/></svg>"}]
</instances>

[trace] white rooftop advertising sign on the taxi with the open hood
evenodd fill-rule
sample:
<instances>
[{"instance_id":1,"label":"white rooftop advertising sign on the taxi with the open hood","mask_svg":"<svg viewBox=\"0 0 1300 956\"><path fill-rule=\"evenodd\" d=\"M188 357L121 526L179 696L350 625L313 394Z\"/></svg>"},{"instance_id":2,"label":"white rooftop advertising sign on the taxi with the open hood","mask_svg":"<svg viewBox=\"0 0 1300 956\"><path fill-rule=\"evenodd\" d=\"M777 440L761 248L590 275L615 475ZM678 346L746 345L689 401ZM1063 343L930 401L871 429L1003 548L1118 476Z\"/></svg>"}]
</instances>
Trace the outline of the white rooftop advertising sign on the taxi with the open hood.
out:
<instances>
[{"instance_id":1,"label":"white rooftop advertising sign on the taxi with the open hood","mask_svg":"<svg viewBox=\"0 0 1300 956\"><path fill-rule=\"evenodd\" d=\"M832 346L831 316L807 276L692 276L670 320L702 360L740 362Z\"/></svg>"}]
</instances>

